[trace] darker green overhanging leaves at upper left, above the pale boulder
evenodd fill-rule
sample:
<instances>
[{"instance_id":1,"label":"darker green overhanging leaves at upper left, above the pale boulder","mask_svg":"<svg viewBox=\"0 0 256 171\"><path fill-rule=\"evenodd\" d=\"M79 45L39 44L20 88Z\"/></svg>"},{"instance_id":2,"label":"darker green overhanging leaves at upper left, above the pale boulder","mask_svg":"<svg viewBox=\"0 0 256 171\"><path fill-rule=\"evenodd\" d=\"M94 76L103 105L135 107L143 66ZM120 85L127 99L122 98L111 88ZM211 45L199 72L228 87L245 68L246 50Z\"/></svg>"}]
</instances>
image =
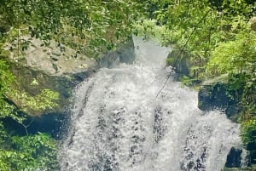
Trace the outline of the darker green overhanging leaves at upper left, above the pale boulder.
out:
<instances>
[{"instance_id":1,"label":"darker green overhanging leaves at upper left, above the pale boulder","mask_svg":"<svg viewBox=\"0 0 256 171\"><path fill-rule=\"evenodd\" d=\"M55 40L72 44L80 53L96 55L131 37L132 24L141 16L143 6L132 0L3 0L0 9L3 20L12 26L7 37L31 35L44 45Z\"/></svg>"}]
</instances>

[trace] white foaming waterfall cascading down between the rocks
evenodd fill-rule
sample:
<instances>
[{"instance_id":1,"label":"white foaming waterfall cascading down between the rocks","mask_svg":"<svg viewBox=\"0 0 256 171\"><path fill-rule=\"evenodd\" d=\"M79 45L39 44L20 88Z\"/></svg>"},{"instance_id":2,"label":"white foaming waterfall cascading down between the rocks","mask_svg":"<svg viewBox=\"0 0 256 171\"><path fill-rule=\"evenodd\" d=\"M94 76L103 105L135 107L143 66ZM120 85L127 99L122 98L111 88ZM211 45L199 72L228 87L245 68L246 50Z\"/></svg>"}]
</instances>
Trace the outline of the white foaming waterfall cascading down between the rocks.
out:
<instances>
[{"instance_id":1,"label":"white foaming waterfall cascading down between the rocks","mask_svg":"<svg viewBox=\"0 0 256 171\"><path fill-rule=\"evenodd\" d=\"M61 170L219 171L239 126L200 111L196 92L172 77L166 83L170 49L134 41L133 65L101 69L76 89Z\"/></svg>"}]
</instances>

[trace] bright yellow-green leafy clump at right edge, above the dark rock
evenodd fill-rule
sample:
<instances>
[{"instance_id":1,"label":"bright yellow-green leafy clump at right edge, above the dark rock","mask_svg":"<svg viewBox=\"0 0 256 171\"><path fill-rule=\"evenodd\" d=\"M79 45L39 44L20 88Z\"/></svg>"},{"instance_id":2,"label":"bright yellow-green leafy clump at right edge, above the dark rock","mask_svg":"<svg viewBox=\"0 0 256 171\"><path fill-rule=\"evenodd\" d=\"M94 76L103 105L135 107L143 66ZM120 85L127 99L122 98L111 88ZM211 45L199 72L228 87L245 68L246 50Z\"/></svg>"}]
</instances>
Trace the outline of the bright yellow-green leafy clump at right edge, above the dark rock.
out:
<instances>
[{"instance_id":1,"label":"bright yellow-green leafy clump at right edge, above the dark rock","mask_svg":"<svg viewBox=\"0 0 256 171\"><path fill-rule=\"evenodd\" d=\"M235 40L219 43L212 51L207 64L207 75L248 71L256 61L256 34L254 31L240 31Z\"/></svg>"}]
</instances>

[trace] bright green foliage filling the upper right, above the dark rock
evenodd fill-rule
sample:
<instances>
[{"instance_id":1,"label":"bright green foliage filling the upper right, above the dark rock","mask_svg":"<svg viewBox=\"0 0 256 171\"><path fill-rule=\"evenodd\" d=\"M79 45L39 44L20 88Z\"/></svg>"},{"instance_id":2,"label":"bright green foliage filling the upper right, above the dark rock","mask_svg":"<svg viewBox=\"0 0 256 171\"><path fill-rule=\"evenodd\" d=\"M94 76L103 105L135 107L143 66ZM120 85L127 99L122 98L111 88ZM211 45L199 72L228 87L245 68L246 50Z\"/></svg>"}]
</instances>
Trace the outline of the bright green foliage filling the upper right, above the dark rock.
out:
<instances>
[{"instance_id":1,"label":"bright green foliage filling the upper right, above the dark rock","mask_svg":"<svg viewBox=\"0 0 256 171\"><path fill-rule=\"evenodd\" d=\"M177 48L180 58L182 53L188 54L191 77L207 79L227 71L241 71L247 67L247 61L253 62L255 31L248 23L253 16L252 3L244 0L149 2L149 16L165 27L162 42Z\"/></svg>"}]
</instances>

